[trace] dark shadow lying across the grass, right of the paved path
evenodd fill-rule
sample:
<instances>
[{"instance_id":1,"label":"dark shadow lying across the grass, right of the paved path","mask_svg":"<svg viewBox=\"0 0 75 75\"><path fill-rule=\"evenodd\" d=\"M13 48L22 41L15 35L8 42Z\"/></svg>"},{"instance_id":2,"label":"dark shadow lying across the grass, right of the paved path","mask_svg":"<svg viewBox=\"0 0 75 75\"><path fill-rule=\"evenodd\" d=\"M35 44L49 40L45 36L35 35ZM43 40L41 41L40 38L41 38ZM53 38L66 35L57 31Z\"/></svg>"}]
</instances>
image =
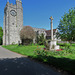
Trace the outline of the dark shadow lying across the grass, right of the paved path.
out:
<instances>
[{"instance_id":1,"label":"dark shadow lying across the grass, right of the paved path","mask_svg":"<svg viewBox=\"0 0 75 75\"><path fill-rule=\"evenodd\" d=\"M44 62L48 65L53 65L54 67L62 69L63 71L67 71L71 75L75 75L75 60L41 55L37 55L36 57L32 58Z\"/></svg>"}]
</instances>

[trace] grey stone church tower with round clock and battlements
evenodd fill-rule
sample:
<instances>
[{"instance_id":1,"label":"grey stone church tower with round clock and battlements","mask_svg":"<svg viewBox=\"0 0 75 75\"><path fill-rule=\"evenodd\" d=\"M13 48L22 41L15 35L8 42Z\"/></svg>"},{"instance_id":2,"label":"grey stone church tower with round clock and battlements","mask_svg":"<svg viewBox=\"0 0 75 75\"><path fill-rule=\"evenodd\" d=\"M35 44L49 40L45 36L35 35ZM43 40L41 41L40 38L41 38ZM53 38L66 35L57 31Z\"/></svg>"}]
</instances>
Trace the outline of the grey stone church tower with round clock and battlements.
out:
<instances>
[{"instance_id":1,"label":"grey stone church tower with round clock and battlements","mask_svg":"<svg viewBox=\"0 0 75 75\"><path fill-rule=\"evenodd\" d=\"M13 5L7 2L4 8L3 45L18 44L23 27L23 7L21 0Z\"/></svg>"}]
</instances>

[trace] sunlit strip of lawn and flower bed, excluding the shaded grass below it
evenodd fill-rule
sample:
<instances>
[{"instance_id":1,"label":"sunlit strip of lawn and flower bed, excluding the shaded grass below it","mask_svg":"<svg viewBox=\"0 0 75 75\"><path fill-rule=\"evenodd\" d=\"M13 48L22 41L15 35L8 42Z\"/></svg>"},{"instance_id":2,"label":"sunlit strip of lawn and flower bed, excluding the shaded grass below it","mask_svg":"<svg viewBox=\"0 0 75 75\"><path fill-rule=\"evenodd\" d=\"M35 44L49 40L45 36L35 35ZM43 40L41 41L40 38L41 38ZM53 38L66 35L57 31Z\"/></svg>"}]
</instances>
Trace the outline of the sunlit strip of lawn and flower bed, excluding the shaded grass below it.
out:
<instances>
[{"instance_id":1,"label":"sunlit strip of lawn and flower bed, excluding the shaded grass below it","mask_svg":"<svg viewBox=\"0 0 75 75\"><path fill-rule=\"evenodd\" d=\"M75 45L75 44L73 44ZM25 54L31 52L31 54L34 55L34 53L36 55L46 55L46 56L64 56L64 55L68 55L68 54L75 54L75 46L71 46L70 48L65 48L65 46L61 46L61 48L63 48L64 50L62 51L47 51L43 45L39 45L39 47L37 45L28 45L28 46L18 46L18 45L8 45L8 46L3 46L9 50L15 51L15 52L24 52ZM47 52L47 53L44 53Z\"/></svg>"}]
</instances>

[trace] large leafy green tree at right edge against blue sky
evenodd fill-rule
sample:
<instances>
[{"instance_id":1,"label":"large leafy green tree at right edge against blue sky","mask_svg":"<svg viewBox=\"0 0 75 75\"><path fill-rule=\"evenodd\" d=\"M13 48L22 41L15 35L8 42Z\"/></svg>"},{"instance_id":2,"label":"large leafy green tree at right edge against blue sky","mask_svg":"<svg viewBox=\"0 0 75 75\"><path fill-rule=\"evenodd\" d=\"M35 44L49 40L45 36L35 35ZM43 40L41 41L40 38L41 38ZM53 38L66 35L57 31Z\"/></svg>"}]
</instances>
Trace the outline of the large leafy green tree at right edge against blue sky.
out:
<instances>
[{"instance_id":1,"label":"large leafy green tree at right edge against blue sky","mask_svg":"<svg viewBox=\"0 0 75 75\"><path fill-rule=\"evenodd\" d=\"M58 30L62 40L75 41L75 8L69 9L60 19Z\"/></svg>"}]
</instances>

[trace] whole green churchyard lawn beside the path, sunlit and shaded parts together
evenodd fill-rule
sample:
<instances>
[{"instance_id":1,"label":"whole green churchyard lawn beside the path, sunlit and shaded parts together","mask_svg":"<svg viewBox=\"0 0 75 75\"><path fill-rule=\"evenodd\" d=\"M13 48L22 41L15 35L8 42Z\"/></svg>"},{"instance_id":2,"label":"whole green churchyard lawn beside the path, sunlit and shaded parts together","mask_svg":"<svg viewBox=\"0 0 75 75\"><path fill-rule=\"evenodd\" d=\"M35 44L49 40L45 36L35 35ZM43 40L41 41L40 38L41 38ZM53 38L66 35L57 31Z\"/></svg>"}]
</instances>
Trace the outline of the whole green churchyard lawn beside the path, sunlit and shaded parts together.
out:
<instances>
[{"instance_id":1,"label":"whole green churchyard lawn beside the path, sunlit and shaded parts together","mask_svg":"<svg viewBox=\"0 0 75 75\"><path fill-rule=\"evenodd\" d=\"M60 44L59 44L60 45ZM44 45L8 45L2 46L10 51L28 56L40 62L52 65L60 71L67 71L75 74L75 44L60 46L62 50L49 51Z\"/></svg>"}]
</instances>

